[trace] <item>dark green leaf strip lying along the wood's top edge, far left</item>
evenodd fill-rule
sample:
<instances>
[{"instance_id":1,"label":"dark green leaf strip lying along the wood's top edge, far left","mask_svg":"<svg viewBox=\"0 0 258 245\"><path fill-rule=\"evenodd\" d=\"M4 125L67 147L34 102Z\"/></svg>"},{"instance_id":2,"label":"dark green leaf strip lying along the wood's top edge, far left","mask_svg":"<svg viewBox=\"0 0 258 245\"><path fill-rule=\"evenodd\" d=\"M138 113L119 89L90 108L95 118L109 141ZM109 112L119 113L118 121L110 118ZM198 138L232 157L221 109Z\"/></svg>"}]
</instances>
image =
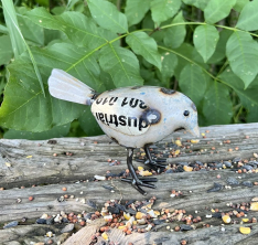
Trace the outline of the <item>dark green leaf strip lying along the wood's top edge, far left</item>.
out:
<instances>
[{"instance_id":1,"label":"dark green leaf strip lying along the wood's top edge, far left","mask_svg":"<svg viewBox=\"0 0 258 245\"><path fill-rule=\"evenodd\" d=\"M62 138L69 132L71 124L55 126L47 131L31 132L31 131L19 131L9 129L4 135L4 139L30 139L30 140L43 140L51 138Z\"/></svg>"}]
</instances>

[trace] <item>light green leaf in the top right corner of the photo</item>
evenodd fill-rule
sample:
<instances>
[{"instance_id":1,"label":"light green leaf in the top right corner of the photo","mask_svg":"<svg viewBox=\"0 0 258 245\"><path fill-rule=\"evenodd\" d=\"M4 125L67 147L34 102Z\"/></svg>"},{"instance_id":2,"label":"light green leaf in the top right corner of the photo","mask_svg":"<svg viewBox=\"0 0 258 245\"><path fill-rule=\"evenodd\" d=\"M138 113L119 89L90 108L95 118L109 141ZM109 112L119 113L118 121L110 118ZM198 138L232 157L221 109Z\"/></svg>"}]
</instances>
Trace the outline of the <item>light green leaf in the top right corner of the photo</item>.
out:
<instances>
[{"instance_id":1,"label":"light green leaf in the top right corner of the photo","mask_svg":"<svg viewBox=\"0 0 258 245\"><path fill-rule=\"evenodd\" d=\"M245 31L258 30L258 0L248 2L241 10L240 17L237 22L237 28Z\"/></svg>"}]
</instances>

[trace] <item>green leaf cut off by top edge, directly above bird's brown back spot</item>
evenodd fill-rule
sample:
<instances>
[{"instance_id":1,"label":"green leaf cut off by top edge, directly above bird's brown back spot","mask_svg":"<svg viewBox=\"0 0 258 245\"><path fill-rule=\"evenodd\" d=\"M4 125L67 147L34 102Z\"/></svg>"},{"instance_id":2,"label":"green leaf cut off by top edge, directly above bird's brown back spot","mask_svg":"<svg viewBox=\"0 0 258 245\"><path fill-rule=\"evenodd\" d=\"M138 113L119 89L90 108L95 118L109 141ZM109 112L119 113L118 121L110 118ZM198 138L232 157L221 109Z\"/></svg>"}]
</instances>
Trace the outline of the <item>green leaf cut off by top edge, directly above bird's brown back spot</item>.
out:
<instances>
[{"instance_id":1,"label":"green leaf cut off by top edge, directly above bird's brown back spot","mask_svg":"<svg viewBox=\"0 0 258 245\"><path fill-rule=\"evenodd\" d=\"M160 25L161 22L172 18L180 9L181 0L153 0L151 1L151 14L153 21Z\"/></svg>"}]
</instances>

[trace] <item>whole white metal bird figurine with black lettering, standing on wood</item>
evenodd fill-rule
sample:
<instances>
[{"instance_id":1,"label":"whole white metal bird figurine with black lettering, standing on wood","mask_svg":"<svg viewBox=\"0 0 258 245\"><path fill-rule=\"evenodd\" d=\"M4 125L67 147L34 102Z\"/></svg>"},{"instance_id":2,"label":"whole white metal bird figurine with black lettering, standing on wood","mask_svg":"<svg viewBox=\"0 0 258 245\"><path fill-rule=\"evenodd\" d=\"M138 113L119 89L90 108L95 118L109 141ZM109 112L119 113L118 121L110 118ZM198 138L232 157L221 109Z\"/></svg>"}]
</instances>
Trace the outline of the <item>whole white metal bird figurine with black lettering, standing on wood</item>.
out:
<instances>
[{"instance_id":1,"label":"whole white metal bird figurine with black lettering, standing on wood","mask_svg":"<svg viewBox=\"0 0 258 245\"><path fill-rule=\"evenodd\" d=\"M62 70L54 68L49 78L50 94L60 99L92 106L103 131L127 148L130 182L141 194L141 187L155 188L155 178L138 178L132 166L135 148L146 151L146 164L154 169L164 166L151 158L149 146L178 129L198 137L197 110L194 103L182 93L155 86L121 87L96 93L86 84Z\"/></svg>"}]
</instances>

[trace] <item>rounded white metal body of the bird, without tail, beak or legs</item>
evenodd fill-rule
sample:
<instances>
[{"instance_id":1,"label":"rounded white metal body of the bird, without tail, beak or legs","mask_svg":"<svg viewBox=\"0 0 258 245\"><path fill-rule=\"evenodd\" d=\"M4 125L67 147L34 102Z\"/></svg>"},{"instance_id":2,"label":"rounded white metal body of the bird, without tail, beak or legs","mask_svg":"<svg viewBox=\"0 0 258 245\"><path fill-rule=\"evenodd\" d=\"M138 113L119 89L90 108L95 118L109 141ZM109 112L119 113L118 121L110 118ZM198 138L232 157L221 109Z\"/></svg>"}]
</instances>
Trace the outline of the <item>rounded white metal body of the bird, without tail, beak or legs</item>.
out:
<instances>
[{"instance_id":1,"label":"rounded white metal body of the bird, without tail, beak or legs","mask_svg":"<svg viewBox=\"0 0 258 245\"><path fill-rule=\"evenodd\" d=\"M182 122L179 115L185 104L191 107L193 103L183 94L162 87L121 87L98 95L92 113L103 131L117 143L140 148L185 128L187 121Z\"/></svg>"}]
</instances>

